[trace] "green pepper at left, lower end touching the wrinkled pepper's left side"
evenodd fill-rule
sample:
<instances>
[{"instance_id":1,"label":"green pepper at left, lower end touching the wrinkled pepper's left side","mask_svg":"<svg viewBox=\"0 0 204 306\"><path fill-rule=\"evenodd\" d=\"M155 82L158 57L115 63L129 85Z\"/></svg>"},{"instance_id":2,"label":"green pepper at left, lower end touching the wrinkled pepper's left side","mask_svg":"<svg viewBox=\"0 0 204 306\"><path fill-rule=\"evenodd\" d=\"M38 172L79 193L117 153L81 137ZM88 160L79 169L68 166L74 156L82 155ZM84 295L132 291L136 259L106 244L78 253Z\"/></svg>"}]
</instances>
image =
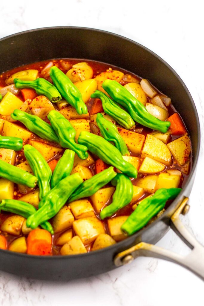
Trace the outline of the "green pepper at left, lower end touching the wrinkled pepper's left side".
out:
<instances>
[{"instance_id":1,"label":"green pepper at left, lower end touching the wrinkled pepper's left side","mask_svg":"<svg viewBox=\"0 0 204 306\"><path fill-rule=\"evenodd\" d=\"M27 129L42 139L59 143L59 139L53 128L38 116L28 114L22 110L14 110L11 114L11 118L23 123Z\"/></svg>"}]
</instances>

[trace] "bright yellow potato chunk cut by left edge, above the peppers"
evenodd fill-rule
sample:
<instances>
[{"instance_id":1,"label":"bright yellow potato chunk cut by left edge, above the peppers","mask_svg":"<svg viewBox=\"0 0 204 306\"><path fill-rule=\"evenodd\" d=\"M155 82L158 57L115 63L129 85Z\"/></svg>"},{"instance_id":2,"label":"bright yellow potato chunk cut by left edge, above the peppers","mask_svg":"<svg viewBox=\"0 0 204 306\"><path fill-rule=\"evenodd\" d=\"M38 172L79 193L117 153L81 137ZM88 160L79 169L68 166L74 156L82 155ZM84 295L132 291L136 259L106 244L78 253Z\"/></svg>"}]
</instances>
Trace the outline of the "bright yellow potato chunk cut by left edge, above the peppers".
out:
<instances>
[{"instance_id":1,"label":"bright yellow potato chunk cut by left edge, above the peppers","mask_svg":"<svg viewBox=\"0 0 204 306\"><path fill-rule=\"evenodd\" d=\"M8 91L0 102L0 114L10 115L15 109L20 108L22 105L23 102L10 91Z\"/></svg>"}]
</instances>

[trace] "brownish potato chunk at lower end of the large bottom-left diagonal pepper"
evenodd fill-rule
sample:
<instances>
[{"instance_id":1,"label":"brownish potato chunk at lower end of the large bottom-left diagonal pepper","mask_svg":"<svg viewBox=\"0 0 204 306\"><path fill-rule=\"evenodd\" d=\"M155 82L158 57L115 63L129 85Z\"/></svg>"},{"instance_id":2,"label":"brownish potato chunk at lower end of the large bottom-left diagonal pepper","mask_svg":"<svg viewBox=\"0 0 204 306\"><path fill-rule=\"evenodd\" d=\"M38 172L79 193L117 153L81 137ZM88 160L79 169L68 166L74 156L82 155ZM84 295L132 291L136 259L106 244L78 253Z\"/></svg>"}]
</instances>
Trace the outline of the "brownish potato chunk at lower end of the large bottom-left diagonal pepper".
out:
<instances>
[{"instance_id":1,"label":"brownish potato chunk at lower end of the large bottom-left diagonal pepper","mask_svg":"<svg viewBox=\"0 0 204 306\"><path fill-rule=\"evenodd\" d=\"M72 226L74 216L67 206L61 208L57 215L53 218L54 232L58 233Z\"/></svg>"}]
</instances>

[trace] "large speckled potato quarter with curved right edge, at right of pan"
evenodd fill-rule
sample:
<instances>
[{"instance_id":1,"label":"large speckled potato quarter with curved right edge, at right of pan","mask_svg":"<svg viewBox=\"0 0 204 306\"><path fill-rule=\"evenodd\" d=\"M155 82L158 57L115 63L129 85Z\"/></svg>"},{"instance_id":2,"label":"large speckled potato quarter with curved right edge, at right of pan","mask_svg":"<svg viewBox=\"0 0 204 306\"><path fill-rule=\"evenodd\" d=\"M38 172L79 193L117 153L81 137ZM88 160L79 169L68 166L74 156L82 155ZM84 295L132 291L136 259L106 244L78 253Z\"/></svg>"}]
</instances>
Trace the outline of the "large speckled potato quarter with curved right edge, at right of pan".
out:
<instances>
[{"instance_id":1,"label":"large speckled potato quarter with curved right edge, at right of pan","mask_svg":"<svg viewBox=\"0 0 204 306\"><path fill-rule=\"evenodd\" d=\"M168 147L165 146L161 140L150 134L147 134L141 157L143 159L146 156L155 159L166 166L170 166L172 162L171 153Z\"/></svg>"}]
</instances>

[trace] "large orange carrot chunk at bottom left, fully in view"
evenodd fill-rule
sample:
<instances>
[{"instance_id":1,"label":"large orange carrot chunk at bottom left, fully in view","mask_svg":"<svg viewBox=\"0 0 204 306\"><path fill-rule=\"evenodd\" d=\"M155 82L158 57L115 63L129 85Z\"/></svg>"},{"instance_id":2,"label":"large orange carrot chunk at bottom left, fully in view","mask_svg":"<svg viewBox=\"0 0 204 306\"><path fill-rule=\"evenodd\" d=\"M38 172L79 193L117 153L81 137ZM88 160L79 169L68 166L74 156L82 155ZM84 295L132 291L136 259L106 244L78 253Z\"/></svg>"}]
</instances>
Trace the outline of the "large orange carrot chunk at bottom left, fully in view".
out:
<instances>
[{"instance_id":1,"label":"large orange carrot chunk at bottom left, fully in view","mask_svg":"<svg viewBox=\"0 0 204 306\"><path fill-rule=\"evenodd\" d=\"M28 234L27 253L31 255L50 255L52 236L47 230L35 229Z\"/></svg>"}]
</instances>

